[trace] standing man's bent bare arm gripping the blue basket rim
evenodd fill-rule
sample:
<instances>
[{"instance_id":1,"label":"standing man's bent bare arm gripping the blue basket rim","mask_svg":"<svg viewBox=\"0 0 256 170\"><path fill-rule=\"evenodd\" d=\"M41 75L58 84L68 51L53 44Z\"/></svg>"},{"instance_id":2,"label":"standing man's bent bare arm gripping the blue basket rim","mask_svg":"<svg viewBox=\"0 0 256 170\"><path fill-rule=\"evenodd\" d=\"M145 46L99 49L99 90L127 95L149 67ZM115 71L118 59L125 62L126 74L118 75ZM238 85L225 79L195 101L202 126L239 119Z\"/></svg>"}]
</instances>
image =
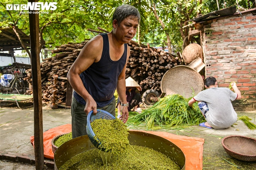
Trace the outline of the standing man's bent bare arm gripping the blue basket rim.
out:
<instances>
[{"instance_id":1,"label":"standing man's bent bare arm gripping the blue basket rim","mask_svg":"<svg viewBox=\"0 0 256 170\"><path fill-rule=\"evenodd\" d=\"M85 113L88 114L91 110L97 113L97 104L92 96L85 89L79 75L91 66L92 63L97 62L101 58L103 48L103 38L101 35L97 35L92 38L83 47L81 52L76 58L75 62L69 69L67 78L73 89L82 97L86 102Z\"/></svg>"}]
</instances>

